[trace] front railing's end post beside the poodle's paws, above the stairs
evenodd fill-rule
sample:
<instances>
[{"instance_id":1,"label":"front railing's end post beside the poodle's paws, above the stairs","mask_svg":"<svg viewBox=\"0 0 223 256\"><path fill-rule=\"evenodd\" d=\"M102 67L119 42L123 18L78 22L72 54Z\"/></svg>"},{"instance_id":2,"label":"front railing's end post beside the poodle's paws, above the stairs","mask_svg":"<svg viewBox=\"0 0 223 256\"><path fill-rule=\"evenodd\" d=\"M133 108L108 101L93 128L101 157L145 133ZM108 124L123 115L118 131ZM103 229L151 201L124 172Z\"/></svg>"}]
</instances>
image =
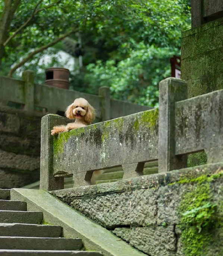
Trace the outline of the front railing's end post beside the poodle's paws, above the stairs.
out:
<instances>
[{"instance_id":1,"label":"front railing's end post beside the poodle's paws, above the stairs","mask_svg":"<svg viewBox=\"0 0 223 256\"><path fill-rule=\"evenodd\" d=\"M41 120L40 189L47 191L63 189L64 177L54 178L53 172L53 126L65 124L65 118L48 114ZM54 135L57 136L57 135Z\"/></svg>"}]
</instances>

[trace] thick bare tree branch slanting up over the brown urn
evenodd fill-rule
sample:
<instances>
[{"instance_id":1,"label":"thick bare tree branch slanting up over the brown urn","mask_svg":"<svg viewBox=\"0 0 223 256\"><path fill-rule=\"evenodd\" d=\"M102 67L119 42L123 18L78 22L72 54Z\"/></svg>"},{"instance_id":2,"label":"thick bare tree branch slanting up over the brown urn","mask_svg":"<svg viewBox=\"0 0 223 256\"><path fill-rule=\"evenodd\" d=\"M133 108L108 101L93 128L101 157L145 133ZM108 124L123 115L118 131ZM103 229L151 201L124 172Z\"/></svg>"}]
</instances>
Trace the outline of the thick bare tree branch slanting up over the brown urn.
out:
<instances>
[{"instance_id":1,"label":"thick bare tree branch slanting up over the brown urn","mask_svg":"<svg viewBox=\"0 0 223 256\"><path fill-rule=\"evenodd\" d=\"M21 62L19 62L18 64L16 64L10 71L9 74L7 75L8 77L12 77L12 74L18 69L20 68L23 64L25 64L29 59L31 59L34 55L36 55L39 52L43 52L45 49L53 46L54 44L58 43L59 41L63 40L63 38L69 36L70 34L77 32L78 29L77 28L73 28L72 30L68 31L67 33L63 34L61 37L56 38L54 41L52 41L51 43L48 43L45 46L42 46L40 48L37 48L36 50L34 50L33 52L29 53L29 55L24 58Z\"/></svg>"}]
</instances>

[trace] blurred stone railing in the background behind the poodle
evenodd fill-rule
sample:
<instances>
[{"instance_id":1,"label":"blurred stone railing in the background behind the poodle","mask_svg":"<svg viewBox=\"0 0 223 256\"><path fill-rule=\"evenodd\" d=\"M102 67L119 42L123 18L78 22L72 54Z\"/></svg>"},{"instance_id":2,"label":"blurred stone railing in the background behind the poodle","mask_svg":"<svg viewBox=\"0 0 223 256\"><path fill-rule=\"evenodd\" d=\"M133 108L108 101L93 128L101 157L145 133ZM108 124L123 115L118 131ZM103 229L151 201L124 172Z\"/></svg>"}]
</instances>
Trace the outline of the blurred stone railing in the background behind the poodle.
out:
<instances>
[{"instance_id":1,"label":"blurred stone railing in the background behind the poodle","mask_svg":"<svg viewBox=\"0 0 223 256\"><path fill-rule=\"evenodd\" d=\"M94 106L96 117L101 121L151 109L148 106L110 99L110 89L106 86L99 88L98 95L92 95L45 84L35 84L34 73L29 70L23 72L22 79L0 77L1 104L7 106L9 102L13 102L22 105L22 109L26 111L40 110L56 114L58 111L65 111L76 98L85 98Z\"/></svg>"}]
</instances>

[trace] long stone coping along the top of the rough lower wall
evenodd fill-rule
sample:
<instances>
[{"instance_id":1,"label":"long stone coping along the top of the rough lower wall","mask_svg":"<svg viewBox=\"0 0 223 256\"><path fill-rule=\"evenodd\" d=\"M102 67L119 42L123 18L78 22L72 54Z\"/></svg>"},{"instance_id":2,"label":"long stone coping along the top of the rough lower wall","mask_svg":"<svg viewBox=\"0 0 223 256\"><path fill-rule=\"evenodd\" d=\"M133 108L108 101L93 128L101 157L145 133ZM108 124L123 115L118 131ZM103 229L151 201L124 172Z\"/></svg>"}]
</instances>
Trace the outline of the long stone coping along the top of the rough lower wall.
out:
<instances>
[{"instance_id":1,"label":"long stone coping along the top of the rough lower wall","mask_svg":"<svg viewBox=\"0 0 223 256\"><path fill-rule=\"evenodd\" d=\"M144 175L111 183L100 183L92 186L60 189L51 191L50 193L58 198L64 198L112 194L116 192L121 193L124 191L136 190L140 188L158 188L159 186L166 186L169 183L178 182L182 179L197 178L198 176L209 173L211 175L216 170L223 170L222 162L215 164L205 164L181 170L174 170L166 173Z\"/></svg>"}]
</instances>

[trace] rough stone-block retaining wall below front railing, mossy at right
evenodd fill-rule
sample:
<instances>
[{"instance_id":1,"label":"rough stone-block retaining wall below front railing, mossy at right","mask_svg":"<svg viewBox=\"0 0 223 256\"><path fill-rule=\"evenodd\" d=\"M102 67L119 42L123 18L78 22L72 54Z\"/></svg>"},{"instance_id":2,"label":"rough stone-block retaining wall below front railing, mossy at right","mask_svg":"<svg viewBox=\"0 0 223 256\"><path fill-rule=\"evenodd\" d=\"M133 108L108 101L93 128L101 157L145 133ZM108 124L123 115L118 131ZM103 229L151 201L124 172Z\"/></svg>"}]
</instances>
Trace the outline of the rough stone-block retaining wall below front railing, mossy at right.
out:
<instances>
[{"instance_id":1,"label":"rough stone-block retaining wall below front railing, mossy at right","mask_svg":"<svg viewBox=\"0 0 223 256\"><path fill-rule=\"evenodd\" d=\"M51 194L147 255L223 254L223 163Z\"/></svg>"}]
</instances>

